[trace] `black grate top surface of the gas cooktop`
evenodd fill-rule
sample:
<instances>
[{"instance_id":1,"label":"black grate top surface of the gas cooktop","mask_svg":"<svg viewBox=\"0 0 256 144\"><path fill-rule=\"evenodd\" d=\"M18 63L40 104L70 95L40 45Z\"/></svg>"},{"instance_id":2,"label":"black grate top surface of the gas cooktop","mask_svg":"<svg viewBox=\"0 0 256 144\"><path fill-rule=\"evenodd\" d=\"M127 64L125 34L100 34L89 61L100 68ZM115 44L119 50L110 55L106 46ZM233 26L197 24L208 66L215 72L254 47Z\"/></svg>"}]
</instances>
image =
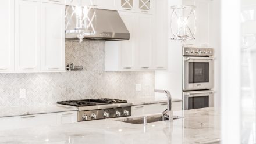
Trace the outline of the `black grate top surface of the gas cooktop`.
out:
<instances>
[{"instance_id":1,"label":"black grate top surface of the gas cooktop","mask_svg":"<svg viewBox=\"0 0 256 144\"><path fill-rule=\"evenodd\" d=\"M62 105L69 105L69 106L95 106L95 105L106 105L106 104L112 104L112 103L127 103L126 100L120 100L120 99L82 99L82 100L68 100L68 101L61 101L57 102Z\"/></svg>"}]
</instances>

